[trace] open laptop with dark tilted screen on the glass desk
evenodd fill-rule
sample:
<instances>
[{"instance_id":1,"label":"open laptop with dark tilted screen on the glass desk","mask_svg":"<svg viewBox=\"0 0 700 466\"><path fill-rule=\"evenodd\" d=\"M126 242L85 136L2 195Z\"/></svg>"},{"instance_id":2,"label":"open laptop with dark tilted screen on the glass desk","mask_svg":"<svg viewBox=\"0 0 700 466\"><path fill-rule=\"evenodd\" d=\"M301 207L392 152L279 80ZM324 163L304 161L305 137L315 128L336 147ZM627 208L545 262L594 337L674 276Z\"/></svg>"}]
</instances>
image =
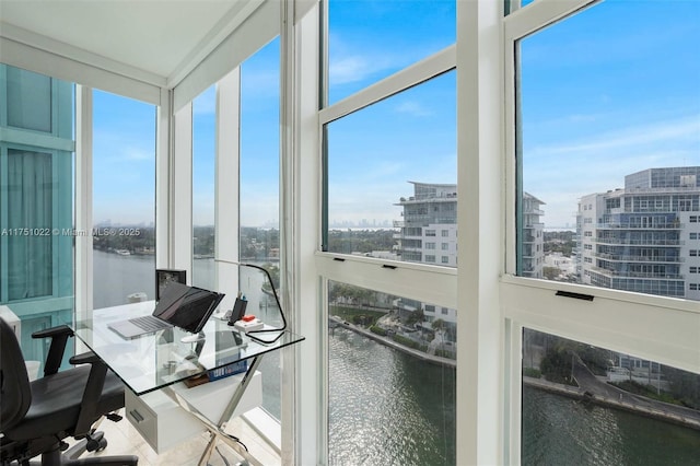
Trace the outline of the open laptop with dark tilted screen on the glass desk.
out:
<instances>
[{"instance_id":1,"label":"open laptop with dark tilted screen on the glass desk","mask_svg":"<svg viewBox=\"0 0 700 466\"><path fill-rule=\"evenodd\" d=\"M172 327L198 334L223 296L223 293L171 282L151 315L115 322L107 327L126 339Z\"/></svg>"}]
</instances>

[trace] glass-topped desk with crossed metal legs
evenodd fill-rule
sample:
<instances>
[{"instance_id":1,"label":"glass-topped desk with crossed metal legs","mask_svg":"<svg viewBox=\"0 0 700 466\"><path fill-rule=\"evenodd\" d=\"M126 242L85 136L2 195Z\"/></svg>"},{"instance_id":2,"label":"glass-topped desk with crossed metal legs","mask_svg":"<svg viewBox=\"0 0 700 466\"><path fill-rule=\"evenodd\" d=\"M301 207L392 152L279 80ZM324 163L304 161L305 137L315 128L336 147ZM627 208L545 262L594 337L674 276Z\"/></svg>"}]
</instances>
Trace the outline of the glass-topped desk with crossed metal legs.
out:
<instances>
[{"instance_id":1,"label":"glass-topped desk with crossed metal legs","mask_svg":"<svg viewBox=\"0 0 700 466\"><path fill-rule=\"evenodd\" d=\"M250 375L257 370L261 357L298 343L304 338L283 330L277 341L261 343L244 333L234 330L225 321L217 317L209 319L202 330L203 340L197 342L183 342L182 338L191 334L176 327L133 339L124 339L108 328L110 323L151 314L154 305L153 301L147 301L95 310L92 318L75 322L74 335L103 359L136 395L163 391L205 424L212 435L200 465L207 464L217 439L223 440L250 464L257 464L237 442L223 432L223 429L241 400ZM273 336L276 335L268 334L268 337ZM178 395L183 388L180 382L206 374L220 375L224 368L232 366L235 366L237 372L245 372L245 375L231 399L221 400L225 406L219 419L208 419L196 406L191 406Z\"/></svg>"}]
</instances>

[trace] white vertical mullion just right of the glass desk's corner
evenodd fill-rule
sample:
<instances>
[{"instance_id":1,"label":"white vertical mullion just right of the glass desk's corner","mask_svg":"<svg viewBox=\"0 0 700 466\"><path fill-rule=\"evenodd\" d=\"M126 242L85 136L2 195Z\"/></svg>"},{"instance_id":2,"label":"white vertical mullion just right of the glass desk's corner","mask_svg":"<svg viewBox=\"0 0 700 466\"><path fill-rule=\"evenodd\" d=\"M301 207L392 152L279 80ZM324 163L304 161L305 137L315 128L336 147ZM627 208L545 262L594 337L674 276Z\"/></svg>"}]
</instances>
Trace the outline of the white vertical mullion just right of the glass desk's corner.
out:
<instances>
[{"instance_id":1,"label":"white vertical mullion just right of the glass desk's corner","mask_svg":"<svg viewBox=\"0 0 700 466\"><path fill-rule=\"evenodd\" d=\"M288 20L289 13L284 16ZM288 56L292 62L284 59L280 62L281 72L294 77L287 85L284 74L281 80L281 98L287 103L281 107L287 109L282 125L290 131L288 136L292 140L288 143L292 142L292 150L291 153L289 148L280 150L280 246L284 272L294 276L294 281L285 280L293 283L285 298L290 326L305 337L301 345L287 351L282 360L282 376L293 376L295 386L295 393L282 399L282 452L293 453L296 465L327 464L328 451L325 444L327 363L324 362L327 361L328 325L327 316L322 312L325 303L323 280L313 260L314 252L320 245L319 13L320 7L315 4L303 18L296 19L293 35L291 31L287 32L288 40L294 40L294 55ZM283 27L283 34L284 31ZM290 45L281 40L282 55L290 53ZM287 126L290 123L295 124ZM284 133L280 136L284 138ZM283 386L285 383L287 378L283 378ZM284 461L283 455L282 463Z\"/></svg>"}]
</instances>

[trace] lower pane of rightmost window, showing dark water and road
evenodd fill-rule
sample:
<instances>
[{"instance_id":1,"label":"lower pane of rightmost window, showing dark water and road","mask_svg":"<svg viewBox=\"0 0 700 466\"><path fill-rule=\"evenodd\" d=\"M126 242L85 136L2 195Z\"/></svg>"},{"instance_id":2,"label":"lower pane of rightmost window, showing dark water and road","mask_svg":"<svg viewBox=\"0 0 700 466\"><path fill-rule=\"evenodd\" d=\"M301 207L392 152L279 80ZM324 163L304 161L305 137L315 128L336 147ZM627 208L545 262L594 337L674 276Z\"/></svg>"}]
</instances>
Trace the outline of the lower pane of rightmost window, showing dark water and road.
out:
<instances>
[{"instance_id":1,"label":"lower pane of rightmost window, showing dark water and road","mask_svg":"<svg viewBox=\"0 0 700 466\"><path fill-rule=\"evenodd\" d=\"M690 465L700 375L523 331L522 463Z\"/></svg>"}]
</instances>

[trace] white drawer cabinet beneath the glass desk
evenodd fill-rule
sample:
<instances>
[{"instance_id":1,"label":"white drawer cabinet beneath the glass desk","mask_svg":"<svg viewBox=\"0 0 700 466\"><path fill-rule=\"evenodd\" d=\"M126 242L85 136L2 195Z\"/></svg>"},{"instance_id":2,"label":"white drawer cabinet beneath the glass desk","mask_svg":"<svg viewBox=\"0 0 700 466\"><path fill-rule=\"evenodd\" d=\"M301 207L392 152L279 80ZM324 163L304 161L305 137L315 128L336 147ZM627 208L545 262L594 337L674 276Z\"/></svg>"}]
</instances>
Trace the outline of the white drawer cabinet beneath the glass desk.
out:
<instances>
[{"instance_id":1,"label":"white drawer cabinet beneath the glass desk","mask_svg":"<svg viewBox=\"0 0 700 466\"><path fill-rule=\"evenodd\" d=\"M174 391L201 415L218 423L225 403L231 399L244 374L232 375L191 388L183 383L163 389ZM232 417L240 416L262 404L262 381L259 372L243 394ZM203 424L162 391L137 396L126 389L125 412L127 419L156 452L161 453L184 440L203 432Z\"/></svg>"}]
</instances>

